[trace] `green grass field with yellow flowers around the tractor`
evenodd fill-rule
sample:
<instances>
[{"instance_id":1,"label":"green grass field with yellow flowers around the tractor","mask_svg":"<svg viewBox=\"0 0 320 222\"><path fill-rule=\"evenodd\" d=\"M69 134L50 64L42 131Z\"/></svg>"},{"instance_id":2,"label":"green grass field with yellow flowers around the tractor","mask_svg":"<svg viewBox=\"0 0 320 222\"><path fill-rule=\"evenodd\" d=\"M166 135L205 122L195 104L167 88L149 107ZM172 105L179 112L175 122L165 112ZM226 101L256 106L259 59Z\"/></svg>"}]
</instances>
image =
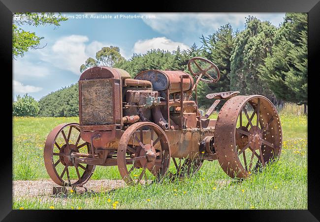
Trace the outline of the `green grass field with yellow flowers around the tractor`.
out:
<instances>
[{"instance_id":1,"label":"green grass field with yellow flowers around the tractor","mask_svg":"<svg viewBox=\"0 0 320 222\"><path fill-rule=\"evenodd\" d=\"M238 183L217 161L205 161L184 181L126 186L68 197L15 197L13 209L307 209L307 117L281 114L283 148L279 161ZM43 162L46 136L78 117L13 119L13 180L49 179ZM121 180L118 168L96 167L91 180Z\"/></svg>"}]
</instances>

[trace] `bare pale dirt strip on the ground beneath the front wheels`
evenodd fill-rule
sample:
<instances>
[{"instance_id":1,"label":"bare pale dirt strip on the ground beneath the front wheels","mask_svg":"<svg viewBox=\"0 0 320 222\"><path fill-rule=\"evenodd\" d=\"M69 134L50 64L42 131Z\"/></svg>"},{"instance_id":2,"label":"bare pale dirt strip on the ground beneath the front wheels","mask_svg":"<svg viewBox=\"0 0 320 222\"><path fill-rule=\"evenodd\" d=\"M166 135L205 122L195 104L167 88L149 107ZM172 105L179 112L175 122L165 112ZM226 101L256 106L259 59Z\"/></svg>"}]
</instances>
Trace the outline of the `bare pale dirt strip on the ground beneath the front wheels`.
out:
<instances>
[{"instance_id":1,"label":"bare pale dirt strip on the ground beneath the front wheels","mask_svg":"<svg viewBox=\"0 0 320 222\"><path fill-rule=\"evenodd\" d=\"M126 184L123 180L90 180L86 183L85 188L94 193L106 192L108 190L124 187ZM51 196L53 187L58 186L51 180L40 181L13 181L12 192L13 198L16 199L22 196ZM78 192L86 191L84 187L79 187ZM71 189L71 187L68 187Z\"/></svg>"}]
</instances>

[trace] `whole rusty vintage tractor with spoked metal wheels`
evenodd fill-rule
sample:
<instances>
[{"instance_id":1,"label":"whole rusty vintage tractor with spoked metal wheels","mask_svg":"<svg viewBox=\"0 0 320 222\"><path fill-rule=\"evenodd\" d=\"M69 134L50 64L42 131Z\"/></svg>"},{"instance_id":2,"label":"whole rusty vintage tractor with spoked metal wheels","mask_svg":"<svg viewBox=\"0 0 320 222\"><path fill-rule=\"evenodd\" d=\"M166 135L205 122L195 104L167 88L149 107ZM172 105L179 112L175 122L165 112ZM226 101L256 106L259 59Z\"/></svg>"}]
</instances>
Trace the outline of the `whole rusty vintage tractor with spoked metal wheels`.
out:
<instances>
[{"instance_id":1,"label":"whole rusty vintage tractor with spoked metal wheels","mask_svg":"<svg viewBox=\"0 0 320 222\"><path fill-rule=\"evenodd\" d=\"M82 186L96 165L117 165L127 184L148 184L164 176L184 178L204 160L217 159L231 178L247 178L280 156L281 123L267 98L208 94L215 102L201 115L197 84L217 82L220 71L200 57L192 58L188 68L191 74L146 70L134 79L124 70L103 66L83 72L79 124L58 125L45 143L51 179ZM218 118L209 118L220 100L226 102Z\"/></svg>"}]
</instances>

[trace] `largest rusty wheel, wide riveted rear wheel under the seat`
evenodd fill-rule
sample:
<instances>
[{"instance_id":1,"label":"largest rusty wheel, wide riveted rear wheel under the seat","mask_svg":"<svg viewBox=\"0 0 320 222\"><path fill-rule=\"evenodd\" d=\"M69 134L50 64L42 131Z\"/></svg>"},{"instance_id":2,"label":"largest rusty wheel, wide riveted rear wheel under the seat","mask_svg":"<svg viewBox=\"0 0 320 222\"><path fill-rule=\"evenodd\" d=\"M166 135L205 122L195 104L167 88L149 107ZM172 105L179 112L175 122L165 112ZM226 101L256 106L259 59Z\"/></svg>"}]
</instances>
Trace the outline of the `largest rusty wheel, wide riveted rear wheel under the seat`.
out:
<instances>
[{"instance_id":1,"label":"largest rusty wheel, wide riveted rear wheel under the seat","mask_svg":"<svg viewBox=\"0 0 320 222\"><path fill-rule=\"evenodd\" d=\"M231 178L247 178L281 153L280 118L263 96L229 99L219 112L214 136L218 161Z\"/></svg>"}]
</instances>

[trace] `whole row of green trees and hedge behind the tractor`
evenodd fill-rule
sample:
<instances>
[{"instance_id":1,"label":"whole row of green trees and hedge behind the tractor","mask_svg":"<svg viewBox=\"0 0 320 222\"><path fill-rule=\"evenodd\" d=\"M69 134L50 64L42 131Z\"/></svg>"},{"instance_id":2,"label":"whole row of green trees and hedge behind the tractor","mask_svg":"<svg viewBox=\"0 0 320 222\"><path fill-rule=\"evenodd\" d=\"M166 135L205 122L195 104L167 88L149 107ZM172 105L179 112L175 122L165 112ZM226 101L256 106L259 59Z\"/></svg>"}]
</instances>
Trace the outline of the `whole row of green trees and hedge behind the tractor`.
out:
<instances>
[{"instance_id":1,"label":"whole row of green trees and hedge behind the tractor","mask_svg":"<svg viewBox=\"0 0 320 222\"><path fill-rule=\"evenodd\" d=\"M221 78L217 83L198 85L198 103L208 108L208 93L240 91L241 95L260 94L275 105L292 102L308 104L308 23L306 13L286 13L280 27L256 17L246 18L245 29L234 31L230 24L215 33L200 37L188 50L149 50L133 54L126 60L119 47L103 47L96 58L88 58L80 71L106 65L126 70L132 77L147 69L182 70L188 72L188 61L195 56L209 59L218 66ZM306 110L306 109L305 109ZM78 85L50 93L39 101L40 116L78 115Z\"/></svg>"}]
</instances>

